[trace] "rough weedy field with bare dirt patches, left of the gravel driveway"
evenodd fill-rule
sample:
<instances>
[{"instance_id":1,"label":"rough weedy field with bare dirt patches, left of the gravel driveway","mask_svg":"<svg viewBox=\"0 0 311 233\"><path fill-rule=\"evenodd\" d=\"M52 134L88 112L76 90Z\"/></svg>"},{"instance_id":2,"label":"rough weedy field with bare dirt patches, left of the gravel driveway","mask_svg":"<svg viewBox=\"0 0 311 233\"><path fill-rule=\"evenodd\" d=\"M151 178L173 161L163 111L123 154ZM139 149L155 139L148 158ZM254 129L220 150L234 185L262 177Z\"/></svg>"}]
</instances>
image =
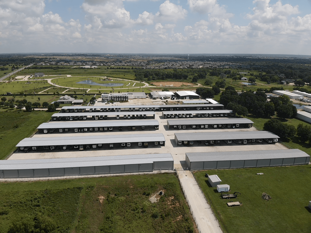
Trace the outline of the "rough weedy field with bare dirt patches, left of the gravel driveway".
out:
<instances>
[{"instance_id":1,"label":"rough weedy field with bare dirt patches, left of the gravel driveway","mask_svg":"<svg viewBox=\"0 0 311 233\"><path fill-rule=\"evenodd\" d=\"M159 202L148 199L164 190ZM0 184L0 233L43 215L54 232L193 232L173 174Z\"/></svg>"}]
</instances>

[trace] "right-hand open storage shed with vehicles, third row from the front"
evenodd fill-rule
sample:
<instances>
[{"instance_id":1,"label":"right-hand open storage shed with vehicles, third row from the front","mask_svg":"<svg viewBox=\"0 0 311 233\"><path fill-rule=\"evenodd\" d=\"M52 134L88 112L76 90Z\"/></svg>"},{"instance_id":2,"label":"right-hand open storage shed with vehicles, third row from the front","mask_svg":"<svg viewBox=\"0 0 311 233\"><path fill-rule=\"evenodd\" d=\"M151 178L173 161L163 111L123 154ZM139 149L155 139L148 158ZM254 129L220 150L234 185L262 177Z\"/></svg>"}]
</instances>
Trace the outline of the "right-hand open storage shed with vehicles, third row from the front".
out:
<instances>
[{"instance_id":1,"label":"right-hand open storage shed with vehicles, third row from the front","mask_svg":"<svg viewBox=\"0 0 311 233\"><path fill-rule=\"evenodd\" d=\"M199 118L193 119L171 119L167 120L167 128L170 129L220 129L220 128L239 128L241 126L250 128L253 121L247 118Z\"/></svg>"}]
</instances>

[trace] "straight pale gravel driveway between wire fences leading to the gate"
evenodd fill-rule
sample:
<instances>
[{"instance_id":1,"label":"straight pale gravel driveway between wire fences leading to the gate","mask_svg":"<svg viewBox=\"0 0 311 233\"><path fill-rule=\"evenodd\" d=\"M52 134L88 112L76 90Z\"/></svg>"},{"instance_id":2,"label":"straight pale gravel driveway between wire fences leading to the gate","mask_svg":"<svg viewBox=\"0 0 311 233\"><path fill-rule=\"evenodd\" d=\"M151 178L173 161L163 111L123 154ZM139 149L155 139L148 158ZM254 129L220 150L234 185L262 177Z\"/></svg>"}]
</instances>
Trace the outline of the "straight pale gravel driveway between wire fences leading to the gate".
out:
<instances>
[{"instance_id":1,"label":"straight pale gravel driveway between wire fences leading to the gate","mask_svg":"<svg viewBox=\"0 0 311 233\"><path fill-rule=\"evenodd\" d=\"M192 173L190 171L178 171L178 177L199 232L222 233Z\"/></svg>"}]
</instances>

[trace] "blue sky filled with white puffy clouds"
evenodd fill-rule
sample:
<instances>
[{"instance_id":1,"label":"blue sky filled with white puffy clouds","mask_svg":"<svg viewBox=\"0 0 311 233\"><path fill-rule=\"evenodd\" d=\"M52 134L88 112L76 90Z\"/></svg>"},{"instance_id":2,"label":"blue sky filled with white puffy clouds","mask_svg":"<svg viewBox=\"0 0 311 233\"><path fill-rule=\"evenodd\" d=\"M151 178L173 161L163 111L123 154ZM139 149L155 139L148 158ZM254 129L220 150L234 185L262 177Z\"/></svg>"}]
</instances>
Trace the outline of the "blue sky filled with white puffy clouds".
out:
<instances>
[{"instance_id":1,"label":"blue sky filled with white puffy clouds","mask_svg":"<svg viewBox=\"0 0 311 233\"><path fill-rule=\"evenodd\" d=\"M1 53L311 55L310 0L1 0Z\"/></svg>"}]
</instances>

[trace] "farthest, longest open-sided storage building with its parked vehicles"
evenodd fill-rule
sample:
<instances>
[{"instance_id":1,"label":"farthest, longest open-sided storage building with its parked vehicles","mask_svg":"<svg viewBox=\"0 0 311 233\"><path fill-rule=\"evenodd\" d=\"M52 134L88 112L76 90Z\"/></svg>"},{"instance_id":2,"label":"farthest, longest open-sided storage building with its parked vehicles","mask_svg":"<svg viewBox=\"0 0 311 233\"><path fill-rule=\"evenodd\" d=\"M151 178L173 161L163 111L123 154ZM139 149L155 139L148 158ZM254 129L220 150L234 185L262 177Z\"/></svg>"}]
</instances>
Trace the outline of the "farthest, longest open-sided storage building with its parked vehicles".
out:
<instances>
[{"instance_id":1,"label":"farthest, longest open-sided storage building with its parked vehicles","mask_svg":"<svg viewBox=\"0 0 311 233\"><path fill-rule=\"evenodd\" d=\"M190 111L222 110L222 104L172 104L172 105L122 105L122 106L64 106L63 113L78 112L145 112L145 111Z\"/></svg>"}]
</instances>

